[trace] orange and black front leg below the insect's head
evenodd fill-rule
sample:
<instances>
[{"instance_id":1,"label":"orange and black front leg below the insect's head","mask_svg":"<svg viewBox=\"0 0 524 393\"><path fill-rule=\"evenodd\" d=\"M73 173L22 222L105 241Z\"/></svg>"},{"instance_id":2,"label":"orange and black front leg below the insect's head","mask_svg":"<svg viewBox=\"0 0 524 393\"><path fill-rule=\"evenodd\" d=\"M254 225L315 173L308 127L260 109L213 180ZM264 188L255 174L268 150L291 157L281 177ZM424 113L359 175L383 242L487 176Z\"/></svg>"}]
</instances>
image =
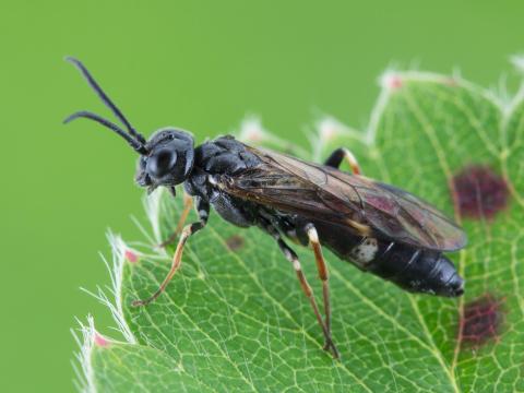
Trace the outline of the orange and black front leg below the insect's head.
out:
<instances>
[{"instance_id":1,"label":"orange and black front leg below the insect's head","mask_svg":"<svg viewBox=\"0 0 524 393\"><path fill-rule=\"evenodd\" d=\"M134 307L147 306L166 289L167 284L169 284L172 276L175 275L175 273L177 273L178 269L180 267L180 264L182 262L182 253L183 253L183 247L186 246L186 241L191 235L194 235L196 231L202 229L207 224L207 217L210 215L210 204L207 202L204 202L200 198L195 198L195 200L196 200L196 209L198 209L200 221L193 224L189 224L182 229L182 234L180 235L180 239L178 240L177 250L172 255L171 269L169 269L169 272L167 273L164 281L162 282L158 289L150 298L145 300L134 300L132 302L132 306Z\"/></svg>"}]
</instances>

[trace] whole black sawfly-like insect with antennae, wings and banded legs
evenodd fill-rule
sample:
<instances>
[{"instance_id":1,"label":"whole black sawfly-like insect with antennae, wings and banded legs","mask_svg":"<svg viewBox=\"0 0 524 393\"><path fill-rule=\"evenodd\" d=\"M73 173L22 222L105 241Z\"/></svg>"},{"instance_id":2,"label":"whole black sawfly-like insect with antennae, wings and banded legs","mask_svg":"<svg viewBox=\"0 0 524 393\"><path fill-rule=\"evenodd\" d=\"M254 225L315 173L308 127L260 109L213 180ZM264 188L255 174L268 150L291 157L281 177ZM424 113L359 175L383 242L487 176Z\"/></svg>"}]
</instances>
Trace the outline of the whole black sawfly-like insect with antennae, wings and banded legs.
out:
<instances>
[{"instance_id":1,"label":"whole black sawfly-like insect with antennae, wings and banded legs","mask_svg":"<svg viewBox=\"0 0 524 393\"><path fill-rule=\"evenodd\" d=\"M349 151L338 148L319 165L254 148L233 136L194 147L191 134L171 128L155 132L146 141L84 66L72 58L69 61L127 131L88 111L73 114L66 122L87 118L118 133L140 154L136 182L150 191L166 187L172 195L175 187L183 183L200 217L181 230L171 269L158 290L146 300L134 301L135 306L150 303L166 288L180 266L187 239L206 225L210 206L227 222L239 227L258 226L275 239L311 302L325 337L324 349L331 349L334 357L338 353L331 337L327 269L321 245L406 290L446 297L463 294L464 281L442 253L465 246L463 230L413 194L361 176ZM343 159L349 163L353 175L337 169ZM322 281L325 318L285 237L311 245Z\"/></svg>"}]
</instances>

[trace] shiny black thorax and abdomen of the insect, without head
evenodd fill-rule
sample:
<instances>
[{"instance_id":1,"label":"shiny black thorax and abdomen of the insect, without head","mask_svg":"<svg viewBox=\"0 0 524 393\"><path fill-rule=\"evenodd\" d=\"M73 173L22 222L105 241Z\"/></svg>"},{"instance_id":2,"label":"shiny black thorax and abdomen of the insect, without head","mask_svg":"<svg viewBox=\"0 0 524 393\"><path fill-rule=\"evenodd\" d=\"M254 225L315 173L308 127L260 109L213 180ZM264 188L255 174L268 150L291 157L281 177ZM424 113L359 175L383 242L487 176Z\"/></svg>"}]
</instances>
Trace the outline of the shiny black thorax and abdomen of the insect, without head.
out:
<instances>
[{"instance_id":1,"label":"shiny black thorax and abdomen of the insect, without head","mask_svg":"<svg viewBox=\"0 0 524 393\"><path fill-rule=\"evenodd\" d=\"M282 235L303 246L308 243L305 228L313 224L321 243L338 258L406 290L440 296L462 295L462 278L442 252L394 242L377 235L359 236L347 227L321 218L287 214L228 194L221 187L219 181L224 177L238 176L259 164L259 157L231 136L206 142L195 148L193 169L184 182L186 191L211 204L225 221L234 225L259 226L267 231L267 225L271 224ZM359 258L358 251L362 250L360 246L365 247L364 250L371 250L366 258Z\"/></svg>"}]
</instances>

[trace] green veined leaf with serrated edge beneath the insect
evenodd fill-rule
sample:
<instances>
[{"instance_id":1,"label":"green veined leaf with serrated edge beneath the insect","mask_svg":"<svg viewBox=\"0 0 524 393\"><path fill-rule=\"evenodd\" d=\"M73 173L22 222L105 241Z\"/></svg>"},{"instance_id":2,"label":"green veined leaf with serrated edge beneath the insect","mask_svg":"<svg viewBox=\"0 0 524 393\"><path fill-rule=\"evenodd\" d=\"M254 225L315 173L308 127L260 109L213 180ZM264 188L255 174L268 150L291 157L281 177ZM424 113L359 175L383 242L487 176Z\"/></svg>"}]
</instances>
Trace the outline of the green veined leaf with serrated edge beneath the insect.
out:
<instances>
[{"instance_id":1,"label":"green veined leaf with serrated edge beneath the insect","mask_svg":"<svg viewBox=\"0 0 524 393\"><path fill-rule=\"evenodd\" d=\"M94 327L84 329L87 389L523 391L523 97L504 106L461 79L388 74L365 132L324 119L313 141L317 158L348 146L367 176L455 216L468 235L468 246L450 254L466 279L465 296L410 295L326 252L333 337L342 355L335 361L322 350L314 315L274 241L212 214L209 227L188 241L167 291L132 308L169 269L172 250L147 247L166 238L180 215L181 202L162 193L148 201L154 235L136 246L138 261L127 261L131 249L114 239L112 311L128 342L97 345ZM491 217L461 217L453 209L453 177L472 165L509 183L508 206ZM473 203L483 198L477 191L471 190ZM320 295L311 252L296 249ZM483 301L491 306L477 321L488 324L485 340L472 337L467 325Z\"/></svg>"}]
</instances>

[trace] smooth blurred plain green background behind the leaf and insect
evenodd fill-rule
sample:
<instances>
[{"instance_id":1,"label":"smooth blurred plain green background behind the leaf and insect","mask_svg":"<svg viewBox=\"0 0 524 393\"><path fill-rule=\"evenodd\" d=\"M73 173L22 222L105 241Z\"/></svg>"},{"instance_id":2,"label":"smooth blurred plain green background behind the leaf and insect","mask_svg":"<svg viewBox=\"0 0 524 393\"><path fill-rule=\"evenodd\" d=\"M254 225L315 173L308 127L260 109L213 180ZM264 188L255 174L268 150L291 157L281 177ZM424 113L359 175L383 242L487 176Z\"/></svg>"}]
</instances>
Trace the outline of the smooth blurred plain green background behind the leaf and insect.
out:
<instances>
[{"instance_id":1,"label":"smooth blurred plain green background behind the leaf and insect","mask_svg":"<svg viewBox=\"0 0 524 393\"><path fill-rule=\"evenodd\" d=\"M199 140L246 114L307 145L320 112L367 122L391 64L497 85L524 49L519 1L2 1L0 391L73 390L74 317L110 317L79 287L108 283L108 227L144 218L135 156L107 130L61 120L108 111L66 55L82 59L139 130ZM216 218L213 218L216 219Z\"/></svg>"}]
</instances>

